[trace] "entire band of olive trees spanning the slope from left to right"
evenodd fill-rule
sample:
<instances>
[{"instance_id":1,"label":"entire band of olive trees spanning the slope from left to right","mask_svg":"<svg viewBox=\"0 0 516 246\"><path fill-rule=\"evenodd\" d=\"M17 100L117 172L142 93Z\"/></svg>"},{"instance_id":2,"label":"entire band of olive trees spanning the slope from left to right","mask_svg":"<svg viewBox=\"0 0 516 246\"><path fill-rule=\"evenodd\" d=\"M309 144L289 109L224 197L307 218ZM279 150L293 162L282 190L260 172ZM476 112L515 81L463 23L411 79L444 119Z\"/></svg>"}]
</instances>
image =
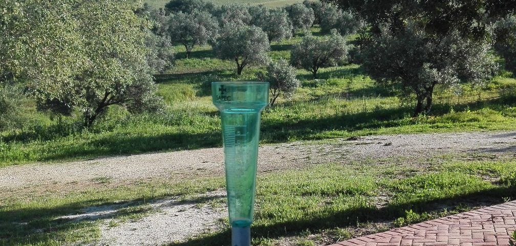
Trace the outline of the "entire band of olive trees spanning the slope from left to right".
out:
<instances>
[{"instance_id":1,"label":"entire band of olive trees spanning the slope from left to right","mask_svg":"<svg viewBox=\"0 0 516 246\"><path fill-rule=\"evenodd\" d=\"M172 41L187 51L211 43L217 56L235 62L238 74L248 64L269 63L260 77L273 82L272 104L299 85L291 65L315 78L320 67L346 63L349 46L341 34L360 28L358 60L379 84L414 95L414 115L430 112L438 84L487 83L497 69L493 50L507 70L515 70L514 1L335 0L340 9L311 2L268 9L196 1L174 0L167 10L122 0L0 3L0 122L21 104L15 99L22 93L40 110L82 112L86 127L115 104L133 112L159 110L152 74L171 66ZM307 34L294 45L290 64L269 62L271 41L324 22L333 23L331 35Z\"/></svg>"}]
</instances>

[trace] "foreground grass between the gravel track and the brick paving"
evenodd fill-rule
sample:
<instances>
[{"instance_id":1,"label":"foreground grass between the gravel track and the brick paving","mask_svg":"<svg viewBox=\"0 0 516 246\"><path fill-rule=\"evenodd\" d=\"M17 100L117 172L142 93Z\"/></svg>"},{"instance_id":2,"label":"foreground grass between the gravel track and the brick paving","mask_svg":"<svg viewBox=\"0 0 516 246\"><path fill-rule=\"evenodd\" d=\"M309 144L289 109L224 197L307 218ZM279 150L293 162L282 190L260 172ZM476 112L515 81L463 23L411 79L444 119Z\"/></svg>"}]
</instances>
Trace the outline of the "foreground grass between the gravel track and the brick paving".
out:
<instances>
[{"instance_id":1,"label":"foreground grass between the gravel track and the brick paving","mask_svg":"<svg viewBox=\"0 0 516 246\"><path fill-rule=\"evenodd\" d=\"M514 160L431 160L429 165L398 161L326 163L261 174L257 180L253 245L320 245L363 233L357 229L416 223L478 204L501 203L516 195ZM26 199L2 197L0 245L61 245L99 238L96 220L58 219L91 206L123 205L118 222L148 213L146 203L165 197L203 202L198 196L224 187L223 177L151 182ZM379 197L386 199L378 203ZM202 201L201 201L202 200ZM227 223L227 221L226 221ZM81 241L82 240L82 241ZM229 227L171 246L225 245ZM313 243L313 244L312 244Z\"/></svg>"}]
</instances>

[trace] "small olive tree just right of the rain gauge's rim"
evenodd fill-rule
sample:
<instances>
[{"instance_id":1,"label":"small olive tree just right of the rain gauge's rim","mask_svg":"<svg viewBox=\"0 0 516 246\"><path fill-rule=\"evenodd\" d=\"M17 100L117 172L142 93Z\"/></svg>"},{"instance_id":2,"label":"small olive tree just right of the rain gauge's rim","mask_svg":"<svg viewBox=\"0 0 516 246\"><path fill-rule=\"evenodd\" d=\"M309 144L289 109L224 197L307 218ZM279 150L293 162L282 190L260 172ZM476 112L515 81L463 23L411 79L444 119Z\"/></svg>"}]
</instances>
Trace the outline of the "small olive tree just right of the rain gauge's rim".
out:
<instances>
[{"instance_id":1,"label":"small olive tree just right of the rain gauge's rim","mask_svg":"<svg viewBox=\"0 0 516 246\"><path fill-rule=\"evenodd\" d=\"M261 81L269 82L270 99L269 106L273 107L278 97L283 94L285 98L290 98L296 92L301 82L296 79L297 69L290 66L286 60L271 62L267 66L267 72L257 73Z\"/></svg>"}]
</instances>

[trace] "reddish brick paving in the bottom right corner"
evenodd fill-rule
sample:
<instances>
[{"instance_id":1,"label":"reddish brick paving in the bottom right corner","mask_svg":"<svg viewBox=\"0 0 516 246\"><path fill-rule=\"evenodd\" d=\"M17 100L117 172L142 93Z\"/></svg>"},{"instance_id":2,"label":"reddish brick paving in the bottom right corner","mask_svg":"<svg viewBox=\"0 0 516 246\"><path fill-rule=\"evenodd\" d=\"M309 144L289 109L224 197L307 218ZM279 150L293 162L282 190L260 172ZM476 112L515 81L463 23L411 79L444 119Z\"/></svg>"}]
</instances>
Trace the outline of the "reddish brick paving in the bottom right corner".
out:
<instances>
[{"instance_id":1,"label":"reddish brick paving in the bottom right corner","mask_svg":"<svg viewBox=\"0 0 516 246\"><path fill-rule=\"evenodd\" d=\"M516 201L338 242L330 246L509 245Z\"/></svg>"}]
</instances>

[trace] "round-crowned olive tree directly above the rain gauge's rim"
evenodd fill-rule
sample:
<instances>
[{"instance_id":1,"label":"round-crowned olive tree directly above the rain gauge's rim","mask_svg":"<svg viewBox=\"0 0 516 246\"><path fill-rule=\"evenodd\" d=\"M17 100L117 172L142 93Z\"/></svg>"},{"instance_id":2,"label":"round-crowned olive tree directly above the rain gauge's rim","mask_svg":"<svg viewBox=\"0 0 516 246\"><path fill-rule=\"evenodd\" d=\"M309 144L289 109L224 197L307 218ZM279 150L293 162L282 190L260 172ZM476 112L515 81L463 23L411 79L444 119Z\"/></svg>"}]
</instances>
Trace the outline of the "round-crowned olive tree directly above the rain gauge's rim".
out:
<instances>
[{"instance_id":1,"label":"round-crowned olive tree directly above the rain gauge's rim","mask_svg":"<svg viewBox=\"0 0 516 246\"><path fill-rule=\"evenodd\" d=\"M265 64L270 45L260 27L227 24L213 50L221 59L234 60L236 73L240 75L248 64Z\"/></svg>"}]
</instances>

